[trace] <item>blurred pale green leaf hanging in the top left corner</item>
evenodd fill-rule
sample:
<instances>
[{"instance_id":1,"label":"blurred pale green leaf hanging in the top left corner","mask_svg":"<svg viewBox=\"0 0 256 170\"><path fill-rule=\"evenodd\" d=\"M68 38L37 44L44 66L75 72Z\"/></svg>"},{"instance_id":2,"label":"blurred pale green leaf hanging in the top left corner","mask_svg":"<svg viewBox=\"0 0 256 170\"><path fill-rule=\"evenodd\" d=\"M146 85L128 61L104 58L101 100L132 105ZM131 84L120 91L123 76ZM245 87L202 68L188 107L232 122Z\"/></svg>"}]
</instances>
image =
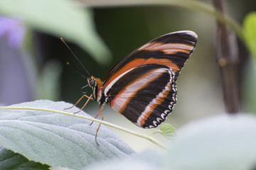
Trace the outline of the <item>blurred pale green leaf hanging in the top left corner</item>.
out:
<instances>
[{"instance_id":1,"label":"blurred pale green leaf hanging in the top left corner","mask_svg":"<svg viewBox=\"0 0 256 170\"><path fill-rule=\"evenodd\" d=\"M95 32L92 11L72 0L1 0L0 13L29 27L63 37L87 50L97 62L110 62L110 51Z\"/></svg>"}]
</instances>

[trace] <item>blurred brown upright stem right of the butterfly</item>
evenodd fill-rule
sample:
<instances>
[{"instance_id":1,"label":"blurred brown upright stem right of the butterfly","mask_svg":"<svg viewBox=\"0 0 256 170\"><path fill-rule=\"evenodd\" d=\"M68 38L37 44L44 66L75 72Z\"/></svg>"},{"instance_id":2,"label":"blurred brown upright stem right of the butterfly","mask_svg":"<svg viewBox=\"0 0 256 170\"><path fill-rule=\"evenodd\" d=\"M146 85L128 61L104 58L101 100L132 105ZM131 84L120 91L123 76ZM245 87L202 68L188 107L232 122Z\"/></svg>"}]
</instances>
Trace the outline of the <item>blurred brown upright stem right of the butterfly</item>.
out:
<instances>
[{"instance_id":1,"label":"blurred brown upright stem right of the butterfly","mask_svg":"<svg viewBox=\"0 0 256 170\"><path fill-rule=\"evenodd\" d=\"M215 8L224 12L224 1L213 0ZM223 96L227 113L240 112L240 90L238 82L238 43L235 34L223 23L217 22L215 57L220 67Z\"/></svg>"}]
</instances>

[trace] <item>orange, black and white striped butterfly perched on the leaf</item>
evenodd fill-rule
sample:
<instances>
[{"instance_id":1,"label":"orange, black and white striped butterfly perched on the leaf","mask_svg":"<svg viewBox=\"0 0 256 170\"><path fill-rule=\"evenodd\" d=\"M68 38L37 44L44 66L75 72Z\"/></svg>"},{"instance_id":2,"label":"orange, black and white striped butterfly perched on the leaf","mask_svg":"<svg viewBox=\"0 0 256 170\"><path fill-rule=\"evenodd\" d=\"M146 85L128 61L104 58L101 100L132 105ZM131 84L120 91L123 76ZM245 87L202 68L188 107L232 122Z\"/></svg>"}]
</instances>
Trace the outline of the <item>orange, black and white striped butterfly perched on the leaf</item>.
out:
<instances>
[{"instance_id":1,"label":"orange, black and white striped butterfly perched on the leaf","mask_svg":"<svg viewBox=\"0 0 256 170\"><path fill-rule=\"evenodd\" d=\"M103 80L89 76L92 95L87 98L99 103L97 115L107 103L135 125L156 128L173 111L176 81L196 42L193 31L161 35L117 62Z\"/></svg>"}]
</instances>

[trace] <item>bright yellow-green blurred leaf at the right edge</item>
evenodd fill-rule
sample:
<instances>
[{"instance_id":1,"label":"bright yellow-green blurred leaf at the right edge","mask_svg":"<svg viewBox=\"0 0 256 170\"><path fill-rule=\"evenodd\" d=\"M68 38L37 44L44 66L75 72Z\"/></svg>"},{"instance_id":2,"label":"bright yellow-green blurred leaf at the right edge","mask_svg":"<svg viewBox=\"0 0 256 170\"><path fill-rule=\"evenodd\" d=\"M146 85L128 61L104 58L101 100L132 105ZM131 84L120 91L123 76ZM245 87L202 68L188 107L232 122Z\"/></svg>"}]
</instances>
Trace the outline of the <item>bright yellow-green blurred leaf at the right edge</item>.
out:
<instances>
[{"instance_id":1,"label":"bright yellow-green blurred leaf at the right edge","mask_svg":"<svg viewBox=\"0 0 256 170\"><path fill-rule=\"evenodd\" d=\"M256 61L256 12L251 12L245 16L243 21L245 42ZM255 62L256 63L256 62Z\"/></svg>"}]
</instances>

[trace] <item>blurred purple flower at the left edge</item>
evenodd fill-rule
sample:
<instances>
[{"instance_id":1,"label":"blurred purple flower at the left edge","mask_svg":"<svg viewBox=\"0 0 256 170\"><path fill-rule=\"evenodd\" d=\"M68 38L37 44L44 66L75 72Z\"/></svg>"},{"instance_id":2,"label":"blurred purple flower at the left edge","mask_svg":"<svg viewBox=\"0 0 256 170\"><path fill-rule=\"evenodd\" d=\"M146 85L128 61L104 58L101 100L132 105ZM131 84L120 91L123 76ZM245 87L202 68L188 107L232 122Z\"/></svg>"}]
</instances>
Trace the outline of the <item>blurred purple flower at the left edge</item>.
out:
<instances>
[{"instance_id":1,"label":"blurred purple flower at the left edge","mask_svg":"<svg viewBox=\"0 0 256 170\"><path fill-rule=\"evenodd\" d=\"M25 33L26 28L21 21L0 16L0 38L6 37L10 47L21 47Z\"/></svg>"}]
</instances>

